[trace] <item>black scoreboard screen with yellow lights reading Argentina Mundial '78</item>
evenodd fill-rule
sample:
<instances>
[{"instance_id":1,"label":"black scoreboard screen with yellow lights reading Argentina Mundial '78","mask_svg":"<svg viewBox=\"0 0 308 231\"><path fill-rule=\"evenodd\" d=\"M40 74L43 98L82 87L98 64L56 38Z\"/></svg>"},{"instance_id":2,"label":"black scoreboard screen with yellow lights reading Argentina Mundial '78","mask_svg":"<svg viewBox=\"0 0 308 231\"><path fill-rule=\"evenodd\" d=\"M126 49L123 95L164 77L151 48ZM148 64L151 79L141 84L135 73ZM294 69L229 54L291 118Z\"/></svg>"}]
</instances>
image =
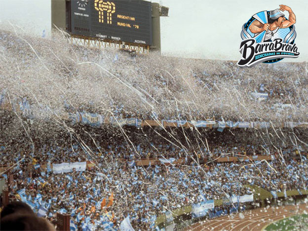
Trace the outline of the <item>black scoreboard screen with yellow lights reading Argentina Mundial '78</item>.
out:
<instances>
[{"instance_id":1,"label":"black scoreboard screen with yellow lights reading Argentina Mundial '78","mask_svg":"<svg viewBox=\"0 0 308 231\"><path fill-rule=\"evenodd\" d=\"M152 45L151 2L71 0L72 34Z\"/></svg>"}]
</instances>

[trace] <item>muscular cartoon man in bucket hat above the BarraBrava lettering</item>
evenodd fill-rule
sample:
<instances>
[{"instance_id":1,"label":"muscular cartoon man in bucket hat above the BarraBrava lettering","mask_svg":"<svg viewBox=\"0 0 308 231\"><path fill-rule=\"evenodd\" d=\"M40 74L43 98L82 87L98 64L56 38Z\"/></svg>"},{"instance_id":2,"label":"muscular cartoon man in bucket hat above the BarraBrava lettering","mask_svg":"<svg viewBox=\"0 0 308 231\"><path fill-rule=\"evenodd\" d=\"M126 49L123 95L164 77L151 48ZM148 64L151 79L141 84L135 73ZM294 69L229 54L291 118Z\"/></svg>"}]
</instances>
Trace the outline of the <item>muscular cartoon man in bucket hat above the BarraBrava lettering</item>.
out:
<instances>
[{"instance_id":1,"label":"muscular cartoon man in bucket hat above the BarraBrava lettering","mask_svg":"<svg viewBox=\"0 0 308 231\"><path fill-rule=\"evenodd\" d=\"M296 23L295 14L293 13L292 9L286 5L279 5L279 9L269 11L268 15L268 23L261 23L258 20L252 22L249 26L249 30L254 33L260 33L266 31L264 41L272 41L272 37L280 28L287 28L292 26ZM281 11L288 11L289 12L289 20L284 17L284 14Z\"/></svg>"}]
</instances>

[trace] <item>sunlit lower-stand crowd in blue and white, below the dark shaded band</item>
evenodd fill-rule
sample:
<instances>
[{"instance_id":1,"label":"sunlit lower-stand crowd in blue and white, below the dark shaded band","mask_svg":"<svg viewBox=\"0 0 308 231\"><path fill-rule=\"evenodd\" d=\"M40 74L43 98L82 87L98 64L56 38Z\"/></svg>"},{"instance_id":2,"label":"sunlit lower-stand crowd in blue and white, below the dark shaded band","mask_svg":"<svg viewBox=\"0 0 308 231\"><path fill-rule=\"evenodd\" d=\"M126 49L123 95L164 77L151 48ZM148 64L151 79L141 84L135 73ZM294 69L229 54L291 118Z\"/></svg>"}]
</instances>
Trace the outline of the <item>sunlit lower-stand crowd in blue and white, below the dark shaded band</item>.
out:
<instances>
[{"instance_id":1,"label":"sunlit lower-stand crowd in blue and white, below the dark shaded band","mask_svg":"<svg viewBox=\"0 0 308 231\"><path fill-rule=\"evenodd\" d=\"M135 148L141 157L155 158L185 156L182 151L175 151L170 146L158 147L161 154L147 150L142 145ZM282 157L266 148L261 148L272 156L272 160L236 163L215 163L198 165L186 157L183 165L135 166L133 151L125 150L123 145L108 146L105 152L92 155L84 152L77 145L71 148L48 147L25 157L14 166L14 182L11 184L11 196L21 199L18 192L25 189L22 198L32 202L36 209L44 206L46 216L51 221L55 213L71 213L72 219L80 229L86 224L91 230L103 229L102 221L111 222L117 229L121 221L129 215L136 230L154 228L154 220L161 212L168 212L202 200L222 199L234 195L251 194L245 185L255 185L268 191L306 189L308 184L308 162L306 154L302 160L296 148L283 150ZM74 149L74 151L73 151ZM214 156L249 154L254 147L212 148ZM10 155L5 146L1 146L2 163L12 165L23 158L23 154ZM205 152L206 153L206 152ZM123 154L123 155L122 155ZM254 151L251 154L259 154ZM261 154L261 153L260 153ZM27 154L29 156L29 154ZM213 157L214 157L213 156ZM94 157L94 158L93 158ZM39 163L61 163L92 160L93 169L83 172L53 174L50 165L44 169ZM32 178L29 175L29 167ZM6 176L7 178L7 176ZM109 224L109 223L108 223ZM111 224L110 224L111 225Z\"/></svg>"}]
</instances>

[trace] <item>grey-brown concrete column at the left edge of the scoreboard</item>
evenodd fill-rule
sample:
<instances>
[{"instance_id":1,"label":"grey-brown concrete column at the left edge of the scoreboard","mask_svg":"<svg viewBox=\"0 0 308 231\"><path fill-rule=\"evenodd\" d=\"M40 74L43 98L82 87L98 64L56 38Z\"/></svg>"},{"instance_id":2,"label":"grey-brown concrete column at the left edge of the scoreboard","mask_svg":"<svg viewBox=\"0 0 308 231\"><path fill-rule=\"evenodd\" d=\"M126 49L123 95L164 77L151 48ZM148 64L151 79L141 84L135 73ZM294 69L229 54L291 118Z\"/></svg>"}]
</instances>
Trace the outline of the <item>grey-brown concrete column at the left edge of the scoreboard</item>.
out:
<instances>
[{"instance_id":1,"label":"grey-brown concrete column at the left edge of the scoreboard","mask_svg":"<svg viewBox=\"0 0 308 231\"><path fill-rule=\"evenodd\" d=\"M67 9L70 5L68 0L51 0L51 31L56 28L68 30L69 20L67 17Z\"/></svg>"}]
</instances>

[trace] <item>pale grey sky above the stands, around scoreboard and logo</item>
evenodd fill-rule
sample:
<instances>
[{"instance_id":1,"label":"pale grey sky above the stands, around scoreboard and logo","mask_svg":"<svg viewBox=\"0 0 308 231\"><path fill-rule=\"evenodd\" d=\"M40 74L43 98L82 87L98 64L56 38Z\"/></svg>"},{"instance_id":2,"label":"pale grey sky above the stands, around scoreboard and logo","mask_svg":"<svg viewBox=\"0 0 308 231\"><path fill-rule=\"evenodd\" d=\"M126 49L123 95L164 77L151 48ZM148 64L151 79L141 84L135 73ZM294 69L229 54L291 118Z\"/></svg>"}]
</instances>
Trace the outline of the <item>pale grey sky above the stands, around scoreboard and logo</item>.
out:
<instances>
[{"instance_id":1,"label":"pale grey sky above the stands, around scoreboard and logo","mask_svg":"<svg viewBox=\"0 0 308 231\"><path fill-rule=\"evenodd\" d=\"M0 20L34 31L50 34L50 0L0 0ZM161 50L165 55L238 60L242 25L255 13L285 4L296 15L297 38L301 53L288 62L308 61L307 0L153 0L169 7L169 17L162 17ZM288 13L284 12L287 16Z\"/></svg>"}]
</instances>

